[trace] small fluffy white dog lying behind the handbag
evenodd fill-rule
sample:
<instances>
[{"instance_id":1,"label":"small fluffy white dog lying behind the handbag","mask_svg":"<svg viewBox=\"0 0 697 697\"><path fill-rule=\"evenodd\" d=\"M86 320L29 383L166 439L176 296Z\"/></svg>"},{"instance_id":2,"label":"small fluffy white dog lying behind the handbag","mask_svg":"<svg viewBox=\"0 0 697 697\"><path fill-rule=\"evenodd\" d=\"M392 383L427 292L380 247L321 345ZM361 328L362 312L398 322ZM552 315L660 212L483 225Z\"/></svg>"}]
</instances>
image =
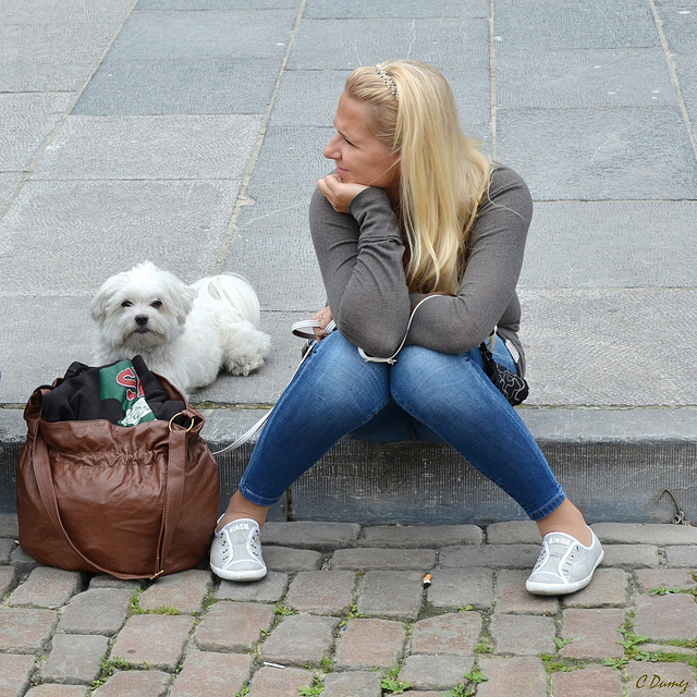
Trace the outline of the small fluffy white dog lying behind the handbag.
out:
<instances>
[{"instance_id":1,"label":"small fluffy white dog lying behind the handbag","mask_svg":"<svg viewBox=\"0 0 697 697\"><path fill-rule=\"evenodd\" d=\"M91 301L95 365L142 355L154 372L188 393L224 367L249 375L270 337L259 331L259 301L242 277L223 273L185 285L149 261L108 279Z\"/></svg>"}]
</instances>

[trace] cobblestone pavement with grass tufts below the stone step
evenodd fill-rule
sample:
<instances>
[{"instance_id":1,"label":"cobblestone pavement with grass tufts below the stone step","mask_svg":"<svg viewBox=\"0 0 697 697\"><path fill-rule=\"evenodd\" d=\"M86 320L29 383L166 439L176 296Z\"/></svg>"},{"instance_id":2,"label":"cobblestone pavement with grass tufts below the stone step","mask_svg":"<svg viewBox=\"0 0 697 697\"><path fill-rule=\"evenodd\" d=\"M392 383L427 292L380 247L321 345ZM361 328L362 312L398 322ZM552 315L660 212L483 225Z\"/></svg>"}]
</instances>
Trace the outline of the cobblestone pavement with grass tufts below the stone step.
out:
<instances>
[{"instance_id":1,"label":"cobblestone pavement with grass tufts below the stone step","mask_svg":"<svg viewBox=\"0 0 697 697\"><path fill-rule=\"evenodd\" d=\"M261 582L139 583L38 565L0 515L0 697L697 695L697 528L594 528L592 584L540 598L533 523L268 523Z\"/></svg>"}]
</instances>

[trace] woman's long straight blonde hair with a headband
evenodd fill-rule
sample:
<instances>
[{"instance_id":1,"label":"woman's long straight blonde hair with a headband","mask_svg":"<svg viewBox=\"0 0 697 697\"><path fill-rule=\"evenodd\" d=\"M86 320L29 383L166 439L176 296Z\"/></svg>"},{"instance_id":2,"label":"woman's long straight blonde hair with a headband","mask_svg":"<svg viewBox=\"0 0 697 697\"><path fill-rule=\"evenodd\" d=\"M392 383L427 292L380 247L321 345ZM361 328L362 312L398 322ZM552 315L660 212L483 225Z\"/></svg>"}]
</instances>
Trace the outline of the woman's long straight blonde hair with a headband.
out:
<instances>
[{"instance_id":1,"label":"woman's long straight blonde hair with a headband","mask_svg":"<svg viewBox=\"0 0 697 697\"><path fill-rule=\"evenodd\" d=\"M491 161L462 132L455 98L439 71L412 60L379 68L396 95L376 66L356 69L344 91L375 107L368 127L400 154L399 215L408 248L408 288L456 293Z\"/></svg>"}]
</instances>

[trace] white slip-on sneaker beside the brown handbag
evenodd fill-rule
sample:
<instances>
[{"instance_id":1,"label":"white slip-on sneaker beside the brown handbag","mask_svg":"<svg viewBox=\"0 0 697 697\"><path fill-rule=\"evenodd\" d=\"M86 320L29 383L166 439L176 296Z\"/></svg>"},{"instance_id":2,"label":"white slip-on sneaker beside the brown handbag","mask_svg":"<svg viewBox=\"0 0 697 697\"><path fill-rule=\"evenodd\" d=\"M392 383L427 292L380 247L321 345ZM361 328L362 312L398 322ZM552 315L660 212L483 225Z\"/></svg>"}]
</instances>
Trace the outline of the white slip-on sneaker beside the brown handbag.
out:
<instances>
[{"instance_id":1,"label":"white slip-on sneaker beside the brown handbag","mask_svg":"<svg viewBox=\"0 0 697 697\"><path fill-rule=\"evenodd\" d=\"M210 568L225 580L258 580L266 576L256 521L233 521L216 533L210 546Z\"/></svg>"}]
</instances>

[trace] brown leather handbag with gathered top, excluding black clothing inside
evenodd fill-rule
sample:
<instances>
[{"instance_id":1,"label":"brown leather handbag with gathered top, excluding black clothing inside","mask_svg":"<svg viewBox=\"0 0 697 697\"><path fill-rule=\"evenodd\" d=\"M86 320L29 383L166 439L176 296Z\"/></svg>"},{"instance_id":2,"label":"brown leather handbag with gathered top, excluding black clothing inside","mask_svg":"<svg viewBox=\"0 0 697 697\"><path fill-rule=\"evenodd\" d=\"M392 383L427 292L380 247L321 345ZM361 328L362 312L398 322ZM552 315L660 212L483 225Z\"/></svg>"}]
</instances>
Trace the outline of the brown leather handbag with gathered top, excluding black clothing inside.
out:
<instances>
[{"instance_id":1,"label":"brown leather handbag with gathered top, excluding black clothing inside","mask_svg":"<svg viewBox=\"0 0 697 697\"><path fill-rule=\"evenodd\" d=\"M192 568L206 554L218 514L218 465L200 437L203 416L156 377L184 403L170 420L49 421L42 401L51 388L32 394L17 517L22 549L41 564L154 578Z\"/></svg>"}]
</instances>

